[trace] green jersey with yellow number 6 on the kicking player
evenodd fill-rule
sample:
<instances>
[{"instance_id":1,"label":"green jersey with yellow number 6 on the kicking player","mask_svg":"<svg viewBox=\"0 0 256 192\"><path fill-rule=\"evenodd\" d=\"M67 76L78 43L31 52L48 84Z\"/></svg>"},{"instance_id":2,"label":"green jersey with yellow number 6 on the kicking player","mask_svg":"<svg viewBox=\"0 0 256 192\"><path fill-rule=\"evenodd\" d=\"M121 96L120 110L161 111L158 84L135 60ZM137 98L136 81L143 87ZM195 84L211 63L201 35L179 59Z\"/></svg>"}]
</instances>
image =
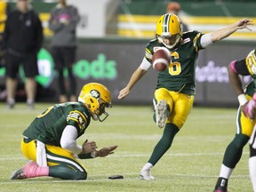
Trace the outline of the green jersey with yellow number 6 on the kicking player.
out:
<instances>
[{"instance_id":1,"label":"green jersey with yellow number 6 on the kicking player","mask_svg":"<svg viewBox=\"0 0 256 192\"><path fill-rule=\"evenodd\" d=\"M169 91L189 95L196 93L196 60L198 51L203 49L200 44L203 35L196 30L188 31L183 34L178 46L169 49L172 62L168 69L157 73L156 89L166 88ZM151 40L146 47L145 58L152 63L154 52L162 46L164 44L159 43L157 39Z\"/></svg>"}]
</instances>

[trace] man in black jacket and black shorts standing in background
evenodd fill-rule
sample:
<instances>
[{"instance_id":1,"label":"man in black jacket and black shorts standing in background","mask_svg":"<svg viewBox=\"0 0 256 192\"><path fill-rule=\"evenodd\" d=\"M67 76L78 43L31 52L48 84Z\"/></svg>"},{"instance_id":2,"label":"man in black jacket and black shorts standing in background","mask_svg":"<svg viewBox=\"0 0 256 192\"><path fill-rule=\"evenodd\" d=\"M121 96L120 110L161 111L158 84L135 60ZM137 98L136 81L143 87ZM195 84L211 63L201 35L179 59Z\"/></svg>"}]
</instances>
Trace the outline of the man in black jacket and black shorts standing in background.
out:
<instances>
[{"instance_id":1,"label":"man in black jacket and black shorts standing in background","mask_svg":"<svg viewBox=\"0 0 256 192\"><path fill-rule=\"evenodd\" d=\"M17 9L10 13L4 28L6 49L7 107L13 108L18 84L17 74L22 64L26 76L25 91L29 108L34 107L38 75L37 52L43 44L43 27L28 0L18 0Z\"/></svg>"}]
</instances>

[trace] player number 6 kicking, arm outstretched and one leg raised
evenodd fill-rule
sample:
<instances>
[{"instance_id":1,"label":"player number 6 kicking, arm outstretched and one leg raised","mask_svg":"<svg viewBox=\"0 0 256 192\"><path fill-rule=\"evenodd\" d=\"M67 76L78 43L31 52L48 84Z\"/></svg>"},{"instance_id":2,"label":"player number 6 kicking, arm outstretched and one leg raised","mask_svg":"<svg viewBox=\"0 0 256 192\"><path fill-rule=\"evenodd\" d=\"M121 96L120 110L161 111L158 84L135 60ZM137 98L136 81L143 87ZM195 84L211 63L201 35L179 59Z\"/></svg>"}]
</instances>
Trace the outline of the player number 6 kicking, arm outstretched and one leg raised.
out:
<instances>
[{"instance_id":1,"label":"player number 6 kicking, arm outstretched and one leg raised","mask_svg":"<svg viewBox=\"0 0 256 192\"><path fill-rule=\"evenodd\" d=\"M164 127L164 133L148 163L140 171L142 179L154 180L150 169L171 148L172 140L185 123L193 106L198 52L209 44L230 36L237 29L247 28L248 25L252 25L252 20L244 18L227 28L220 28L208 34L196 30L183 33L178 16L167 13L159 18L156 23L156 39L148 43L139 68L133 72L130 81L118 95L118 99L124 99L131 92L132 87L148 72L152 66L152 55L157 48L164 46L172 52L169 68L157 73L154 95L154 120L159 128Z\"/></svg>"}]
</instances>

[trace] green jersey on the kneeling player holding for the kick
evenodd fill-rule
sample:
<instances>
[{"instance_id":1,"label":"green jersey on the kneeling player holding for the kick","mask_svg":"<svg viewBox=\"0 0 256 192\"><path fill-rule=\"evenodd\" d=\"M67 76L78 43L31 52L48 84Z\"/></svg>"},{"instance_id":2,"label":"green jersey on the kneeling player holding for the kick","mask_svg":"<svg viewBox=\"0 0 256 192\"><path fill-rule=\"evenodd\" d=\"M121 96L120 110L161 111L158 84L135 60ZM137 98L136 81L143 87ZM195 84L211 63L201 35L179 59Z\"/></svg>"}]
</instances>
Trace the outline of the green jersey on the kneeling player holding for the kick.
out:
<instances>
[{"instance_id":1,"label":"green jersey on the kneeling player holding for the kick","mask_svg":"<svg viewBox=\"0 0 256 192\"><path fill-rule=\"evenodd\" d=\"M91 122L91 114L82 102L67 102L47 108L36 116L23 132L25 137L40 140L44 144L60 147L60 138L65 127L73 125L78 132L77 138L84 134Z\"/></svg>"}]
</instances>

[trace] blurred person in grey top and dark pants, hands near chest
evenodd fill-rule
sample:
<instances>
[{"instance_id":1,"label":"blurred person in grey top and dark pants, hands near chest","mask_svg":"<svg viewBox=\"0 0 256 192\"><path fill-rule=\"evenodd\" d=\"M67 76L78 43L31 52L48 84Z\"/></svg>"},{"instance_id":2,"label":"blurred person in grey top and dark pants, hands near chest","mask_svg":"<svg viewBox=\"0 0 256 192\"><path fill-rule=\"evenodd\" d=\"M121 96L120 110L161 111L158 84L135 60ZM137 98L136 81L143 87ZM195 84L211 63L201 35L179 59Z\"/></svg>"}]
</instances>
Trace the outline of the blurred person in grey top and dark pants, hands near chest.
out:
<instances>
[{"instance_id":1,"label":"blurred person in grey top and dark pants, hands near chest","mask_svg":"<svg viewBox=\"0 0 256 192\"><path fill-rule=\"evenodd\" d=\"M80 20L75 6L68 5L66 0L59 0L53 8L49 28L53 31L52 57L55 69L59 72L60 102L76 101L76 79L72 67L76 60L76 25ZM68 68L68 87L65 86L64 68ZM69 92L68 92L69 91Z\"/></svg>"}]
</instances>

